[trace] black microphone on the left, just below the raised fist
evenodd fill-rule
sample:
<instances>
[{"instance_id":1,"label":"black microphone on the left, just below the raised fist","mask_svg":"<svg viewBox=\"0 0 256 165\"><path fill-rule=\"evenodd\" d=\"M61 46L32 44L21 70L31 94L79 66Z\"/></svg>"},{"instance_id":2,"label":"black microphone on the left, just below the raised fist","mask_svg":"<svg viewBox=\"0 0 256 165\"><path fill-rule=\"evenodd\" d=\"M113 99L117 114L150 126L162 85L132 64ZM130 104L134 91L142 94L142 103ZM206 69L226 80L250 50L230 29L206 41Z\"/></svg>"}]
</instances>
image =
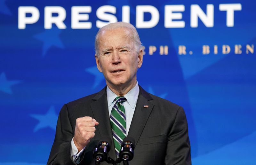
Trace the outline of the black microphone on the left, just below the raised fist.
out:
<instances>
[{"instance_id":1,"label":"black microphone on the left, just below the raised fist","mask_svg":"<svg viewBox=\"0 0 256 165\"><path fill-rule=\"evenodd\" d=\"M92 156L95 160L95 164L100 164L102 161L107 161L108 152L110 151L111 139L108 136L101 138L98 146L93 150Z\"/></svg>"}]
</instances>

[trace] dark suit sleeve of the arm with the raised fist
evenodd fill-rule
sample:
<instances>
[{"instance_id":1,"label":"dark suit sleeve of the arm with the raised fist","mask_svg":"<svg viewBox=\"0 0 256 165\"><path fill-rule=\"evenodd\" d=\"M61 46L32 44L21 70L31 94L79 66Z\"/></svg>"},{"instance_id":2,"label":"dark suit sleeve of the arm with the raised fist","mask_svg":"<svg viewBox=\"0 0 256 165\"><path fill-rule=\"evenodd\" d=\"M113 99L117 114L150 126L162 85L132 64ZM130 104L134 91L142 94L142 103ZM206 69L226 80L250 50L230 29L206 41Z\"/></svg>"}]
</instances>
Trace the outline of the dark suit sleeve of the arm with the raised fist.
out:
<instances>
[{"instance_id":1,"label":"dark suit sleeve of the arm with the raised fist","mask_svg":"<svg viewBox=\"0 0 256 165\"><path fill-rule=\"evenodd\" d=\"M73 129L68 117L68 108L65 104L60 110L55 139L47 165L76 164L72 161L70 154L73 136Z\"/></svg>"}]
</instances>

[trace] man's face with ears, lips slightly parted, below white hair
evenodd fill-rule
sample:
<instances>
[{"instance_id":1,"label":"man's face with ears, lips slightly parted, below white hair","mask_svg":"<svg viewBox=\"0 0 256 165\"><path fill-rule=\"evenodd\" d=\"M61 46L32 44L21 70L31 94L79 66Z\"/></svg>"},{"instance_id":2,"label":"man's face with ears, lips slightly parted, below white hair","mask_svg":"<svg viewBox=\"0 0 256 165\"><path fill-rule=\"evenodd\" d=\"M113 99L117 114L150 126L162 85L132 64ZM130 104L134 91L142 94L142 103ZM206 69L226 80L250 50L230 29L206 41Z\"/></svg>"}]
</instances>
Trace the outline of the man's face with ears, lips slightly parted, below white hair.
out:
<instances>
[{"instance_id":1,"label":"man's face with ears, lips slightly parted, below white hair","mask_svg":"<svg viewBox=\"0 0 256 165\"><path fill-rule=\"evenodd\" d=\"M137 69L142 65L142 50L137 51L127 28L103 31L99 38L96 64L107 85L120 86L136 83Z\"/></svg>"}]
</instances>

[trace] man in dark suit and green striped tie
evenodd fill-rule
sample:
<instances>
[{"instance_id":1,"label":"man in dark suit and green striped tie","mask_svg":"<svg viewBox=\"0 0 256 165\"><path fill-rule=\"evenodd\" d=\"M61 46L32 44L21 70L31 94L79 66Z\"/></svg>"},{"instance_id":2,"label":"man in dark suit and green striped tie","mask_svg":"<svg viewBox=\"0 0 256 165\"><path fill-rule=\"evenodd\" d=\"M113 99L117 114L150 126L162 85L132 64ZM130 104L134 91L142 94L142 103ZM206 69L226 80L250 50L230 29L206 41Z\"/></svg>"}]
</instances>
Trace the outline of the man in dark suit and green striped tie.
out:
<instances>
[{"instance_id":1,"label":"man in dark suit and green striped tie","mask_svg":"<svg viewBox=\"0 0 256 165\"><path fill-rule=\"evenodd\" d=\"M130 164L191 164L183 108L138 85L143 54L136 29L124 22L100 28L95 51L107 86L62 107L47 164L95 164L92 151L103 136L113 140L113 159L119 155L120 141L129 136L135 139Z\"/></svg>"}]
</instances>

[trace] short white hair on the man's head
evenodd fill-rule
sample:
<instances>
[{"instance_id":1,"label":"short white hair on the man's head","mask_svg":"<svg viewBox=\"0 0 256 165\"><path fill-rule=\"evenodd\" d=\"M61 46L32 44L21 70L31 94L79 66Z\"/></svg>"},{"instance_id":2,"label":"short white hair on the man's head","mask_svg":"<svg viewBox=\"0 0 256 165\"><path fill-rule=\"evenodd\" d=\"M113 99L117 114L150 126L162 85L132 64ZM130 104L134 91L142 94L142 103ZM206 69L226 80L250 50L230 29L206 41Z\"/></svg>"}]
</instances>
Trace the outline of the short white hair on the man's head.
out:
<instances>
[{"instance_id":1,"label":"short white hair on the man's head","mask_svg":"<svg viewBox=\"0 0 256 165\"><path fill-rule=\"evenodd\" d=\"M106 30L115 30L118 28L127 28L131 32L132 35L130 37L131 37L132 43L134 45L135 50L139 52L142 45L141 45L140 37L136 28L130 23L115 22L115 23L110 23L108 25L103 26L102 28L99 29L98 33L96 34L94 49L95 49L95 54L97 56L99 55L99 38L102 32Z\"/></svg>"}]
</instances>

